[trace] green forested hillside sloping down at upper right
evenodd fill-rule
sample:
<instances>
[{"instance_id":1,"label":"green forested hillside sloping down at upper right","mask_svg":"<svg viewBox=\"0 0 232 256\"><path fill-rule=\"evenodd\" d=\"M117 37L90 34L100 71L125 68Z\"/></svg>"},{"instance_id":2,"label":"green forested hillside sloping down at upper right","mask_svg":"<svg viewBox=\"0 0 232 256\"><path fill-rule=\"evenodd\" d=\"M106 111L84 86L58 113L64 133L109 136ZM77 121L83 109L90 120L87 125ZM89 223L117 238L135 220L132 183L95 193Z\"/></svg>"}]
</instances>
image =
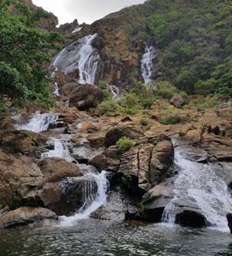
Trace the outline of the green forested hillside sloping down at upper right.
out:
<instances>
[{"instance_id":1,"label":"green forested hillside sloping down at upper right","mask_svg":"<svg viewBox=\"0 0 232 256\"><path fill-rule=\"evenodd\" d=\"M160 79L188 92L232 96L232 2L148 0L111 15L130 34L159 50Z\"/></svg>"}]
</instances>

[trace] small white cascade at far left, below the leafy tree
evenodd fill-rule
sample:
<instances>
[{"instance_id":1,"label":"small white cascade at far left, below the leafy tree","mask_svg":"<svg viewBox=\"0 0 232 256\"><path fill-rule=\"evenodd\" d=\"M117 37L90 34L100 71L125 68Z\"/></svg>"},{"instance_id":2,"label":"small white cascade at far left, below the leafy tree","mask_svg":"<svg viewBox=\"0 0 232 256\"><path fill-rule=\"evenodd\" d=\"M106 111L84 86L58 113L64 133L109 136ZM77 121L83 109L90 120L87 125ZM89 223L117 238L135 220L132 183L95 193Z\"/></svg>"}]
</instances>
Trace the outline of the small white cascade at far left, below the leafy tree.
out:
<instances>
[{"instance_id":1,"label":"small white cascade at far left, below the leafy tree","mask_svg":"<svg viewBox=\"0 0 232 256\"><path fill-rule=\"evenodd\" d=\"M18 130L26 131L46 131L49 125L54 124L59 118L58 114L46 113L46 114L34 114L30 121L17 126Z\"/></svg>"}]
</instances>

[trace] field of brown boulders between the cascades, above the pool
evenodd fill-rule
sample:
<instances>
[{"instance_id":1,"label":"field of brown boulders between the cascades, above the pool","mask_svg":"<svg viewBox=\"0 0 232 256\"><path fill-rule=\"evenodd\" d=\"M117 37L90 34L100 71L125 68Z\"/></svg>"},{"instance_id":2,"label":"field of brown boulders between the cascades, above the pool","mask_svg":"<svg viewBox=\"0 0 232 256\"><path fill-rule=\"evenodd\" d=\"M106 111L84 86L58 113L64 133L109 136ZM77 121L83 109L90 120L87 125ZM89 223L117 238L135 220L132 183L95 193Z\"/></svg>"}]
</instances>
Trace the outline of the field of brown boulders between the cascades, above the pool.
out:
<instances>
[{"instance_id":1,"label":"field of brown boulders between the cascades, above the pool","mask_svg":"<svg viewBox=\"0 0 232 256\"><path fill-rule=\"evenodd\" d=\"M96 97L101 100L97 92ZM80 101L81 94L74 102ZM136 122L140 115L95 115L95 104L97 101L88 105L88 112L78 109L79 105L58 106L54 112L60 113L57 122L63 125L55 123L40 133L18 131L15 118L2 119L1 228L43 219L56 221L59 215L73 215L85 203L83 188L89 181L83 175L88 168L98 172L106 170L110 182L107 203L93 212L92 218L160 222L166 206L173 201L172 183L181 171L176 170L174 162L179 145L185 147L187 160L231 170L232 124L218 115L221 109L217 113L174 109L172 112L182 117L181 123L162 125L154 119L161 115L161 109L156 105L147 111L149 127L144 128ZM25 118L28 115L30 112L24 113ZM119 152L116 145L122 137L134 141L134 147L124 153ZM55 147L50 138L65 138L71 158L44 159L43 154ZM231 173L221 175L230 191ZM93 190L96 186L92 184ZM197 204L176 199L174 205L178 209L176 223L191 227L210 225ZM230 215L227 219L231 226Z\"/></svg>"}]
</instances>

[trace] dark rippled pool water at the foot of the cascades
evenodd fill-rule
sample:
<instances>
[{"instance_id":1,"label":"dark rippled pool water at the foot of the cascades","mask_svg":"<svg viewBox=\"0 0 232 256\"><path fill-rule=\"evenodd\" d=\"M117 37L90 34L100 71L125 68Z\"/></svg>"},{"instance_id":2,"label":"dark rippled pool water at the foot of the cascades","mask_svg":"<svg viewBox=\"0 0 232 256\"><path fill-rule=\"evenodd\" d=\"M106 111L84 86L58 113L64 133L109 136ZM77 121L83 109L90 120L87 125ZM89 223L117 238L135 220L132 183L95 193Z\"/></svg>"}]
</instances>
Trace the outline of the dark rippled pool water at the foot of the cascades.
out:
<instances>
[{"instance_id":1,"label":"dark rippled pool water at the foot of the cascades","mask_svg":"<svg viewBox=\"0 0 232 256\"><path fill-rule=\"evenodd\" d=\"M232 235L209 229L92 219L72 228L0 231L1 256L232 256Z\"/></svg>"}]
</instances>

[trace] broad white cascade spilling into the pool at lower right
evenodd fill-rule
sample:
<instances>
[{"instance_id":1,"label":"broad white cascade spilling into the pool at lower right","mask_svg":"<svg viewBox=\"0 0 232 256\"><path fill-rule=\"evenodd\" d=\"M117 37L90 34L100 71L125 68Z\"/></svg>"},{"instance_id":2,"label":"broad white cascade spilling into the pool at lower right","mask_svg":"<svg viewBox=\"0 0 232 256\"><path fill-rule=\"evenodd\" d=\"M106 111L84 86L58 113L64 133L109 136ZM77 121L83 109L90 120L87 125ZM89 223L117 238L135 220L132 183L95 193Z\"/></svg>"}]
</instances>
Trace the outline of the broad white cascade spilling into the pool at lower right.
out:
<instances>
[{"instance_id":1,"label":"broad white cascade spilling into the pool at lower right","mask_svg":"<svg viewBox=\"0 0 232 256\"><path fill-rule=\"evenodd\" d=\"M176 147L175 164L180 170L173 183L174 197L163 212L163 222L175 223L179 210L175 202L178 200L198 206L211 228L228 232L226 215L232 212L232 198L222 177L222 168L186 158L185 148Z\"/></svg>"}]
</instances>

